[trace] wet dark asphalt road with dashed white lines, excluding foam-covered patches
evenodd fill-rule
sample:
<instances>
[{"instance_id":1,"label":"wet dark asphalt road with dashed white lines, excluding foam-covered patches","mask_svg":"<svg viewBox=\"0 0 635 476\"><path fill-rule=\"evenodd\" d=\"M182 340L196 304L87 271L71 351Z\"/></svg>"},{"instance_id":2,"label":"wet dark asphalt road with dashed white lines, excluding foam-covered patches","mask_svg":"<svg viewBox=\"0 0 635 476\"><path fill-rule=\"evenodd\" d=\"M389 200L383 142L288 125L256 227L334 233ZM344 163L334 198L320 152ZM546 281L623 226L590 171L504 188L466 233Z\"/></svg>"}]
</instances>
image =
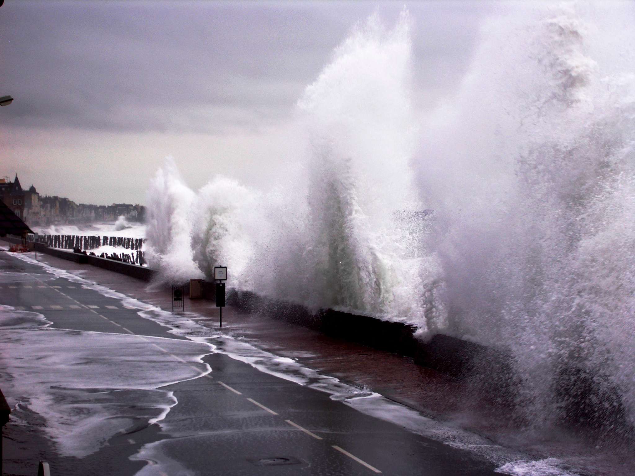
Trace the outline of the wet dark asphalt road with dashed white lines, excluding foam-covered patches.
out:
<instances>
[{"instance_id":1,"label":"wet dark asphalt road with dashed white lines, excluding foam-covered patches","mask_svg":"<svg viewBox=\"0 0 635 476\"><path fill-rule=\"evenodd\" d=\"M0 304L43 314L53 327L178 339L120 300L67 279L50 279L43 268L10 253L0 251L0 271L15 274L0 282ZM157 347L156 352L164 351ZM161 470L147 466L144 475L177 476L179 467L228 476L498 474L494 465L467 451L359 413L326 393L225 355L211 354L204 361L213 369L208 376L164 387L178 400L165 421L187 428L184 435L174 438L150 425L117 435L83 459L50 456L51 468L57 465L59 474L134 474L145 463L129 457L143 444L163 440L162 453L176 464ZM11 458L6 449L4 458Z\"/></svg>"}]
</instances>

